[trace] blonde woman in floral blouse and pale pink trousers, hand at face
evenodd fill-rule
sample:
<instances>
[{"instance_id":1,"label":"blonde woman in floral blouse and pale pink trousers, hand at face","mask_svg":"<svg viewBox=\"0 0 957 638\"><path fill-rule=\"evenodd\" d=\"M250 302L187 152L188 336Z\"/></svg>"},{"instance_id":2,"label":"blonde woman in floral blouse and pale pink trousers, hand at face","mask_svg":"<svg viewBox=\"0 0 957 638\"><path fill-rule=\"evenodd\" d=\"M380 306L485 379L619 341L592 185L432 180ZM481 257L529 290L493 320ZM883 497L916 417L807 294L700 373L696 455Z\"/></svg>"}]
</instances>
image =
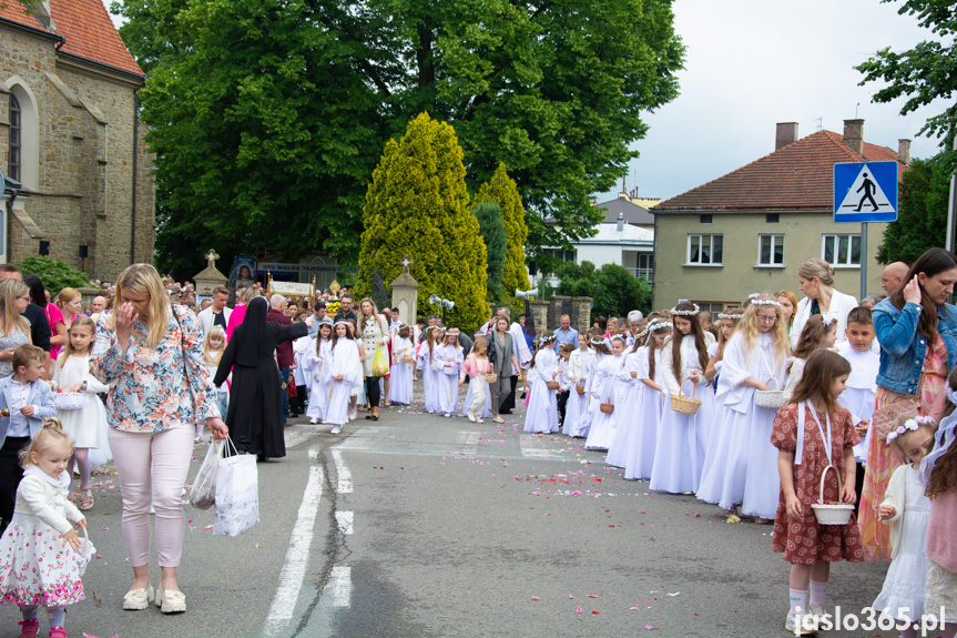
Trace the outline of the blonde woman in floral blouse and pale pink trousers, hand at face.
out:
<instances>
[{"instance_id":1,"label":"blonde woman in floral blouse and pale pink trousers, hand at face","mask_svg":"<svg viewBox=\"0 0 957 638\"><path fill-rule=\"evenodd\" d=\"M150 586L150 505L155 507L162 570L156 604L165 614L186 610L176 586L185 517L183 485L193 453L194 424L205 419L215 438L227 429L203 363L195 315L172 306L156 270L133 264L120 274L111 313L102 313L90 361L110 385L110 447L123 495L123 540L133 586L123 609L145 609Z\"/></svg>"}]
</instances>

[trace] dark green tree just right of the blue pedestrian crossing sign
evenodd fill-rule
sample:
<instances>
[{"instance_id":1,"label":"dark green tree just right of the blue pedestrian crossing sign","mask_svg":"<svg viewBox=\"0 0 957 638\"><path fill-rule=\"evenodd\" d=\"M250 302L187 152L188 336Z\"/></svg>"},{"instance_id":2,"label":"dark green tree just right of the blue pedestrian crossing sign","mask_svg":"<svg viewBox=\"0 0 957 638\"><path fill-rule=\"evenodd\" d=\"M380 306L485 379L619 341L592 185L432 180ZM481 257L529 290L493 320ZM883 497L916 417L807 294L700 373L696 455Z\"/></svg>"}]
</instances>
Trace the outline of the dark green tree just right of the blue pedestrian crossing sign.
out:
<instances>
[{"instance_id":1,"label":"dark green tree just right of the blue pedestrian crossing sign","mask_svg":"<svg viewBox=\"0 0 957 638\"><path fill-rule=\"evenodd\" d=\"M943 155L914 160L900 182L897 221L884 229L877 261L913 264L927 249L943 246L949 196L950 171Z\"/></svg>"}]
</instances>

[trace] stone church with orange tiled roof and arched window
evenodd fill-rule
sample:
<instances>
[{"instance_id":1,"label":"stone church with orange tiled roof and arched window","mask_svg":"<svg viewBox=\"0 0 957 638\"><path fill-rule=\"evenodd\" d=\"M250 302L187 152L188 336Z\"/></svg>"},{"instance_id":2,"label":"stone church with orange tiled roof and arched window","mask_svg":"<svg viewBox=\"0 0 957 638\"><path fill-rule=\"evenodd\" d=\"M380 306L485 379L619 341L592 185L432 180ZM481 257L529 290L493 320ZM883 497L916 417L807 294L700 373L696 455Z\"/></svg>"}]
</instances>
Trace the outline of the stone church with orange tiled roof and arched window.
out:
<instances>
[{"instance_id":1,"label":"stone church with orange tiled roof and arched window","mask_svg":"<svg viewBox=\"0 0 957 638\"><path fill-rule=\"evenodd\" d=\"M49 254L103 281L152 262L144 81L101 0L0 0L0 262Z\"/></svg>"}]
</instances>

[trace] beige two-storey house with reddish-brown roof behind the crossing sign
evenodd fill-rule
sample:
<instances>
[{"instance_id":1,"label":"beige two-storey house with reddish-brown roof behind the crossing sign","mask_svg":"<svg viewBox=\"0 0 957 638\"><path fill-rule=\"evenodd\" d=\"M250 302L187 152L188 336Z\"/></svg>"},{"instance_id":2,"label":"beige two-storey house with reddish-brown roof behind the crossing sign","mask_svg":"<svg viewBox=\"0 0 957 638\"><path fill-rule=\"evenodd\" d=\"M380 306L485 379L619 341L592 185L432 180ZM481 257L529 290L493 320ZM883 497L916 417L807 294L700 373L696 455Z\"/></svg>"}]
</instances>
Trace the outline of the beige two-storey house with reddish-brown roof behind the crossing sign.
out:
<instances>
[{"instance_id":1,"label":"beige two-storey house with reddish-brown roof behind the crossing sign","mask_svg":"<svg viewBox=\"0 0 957 638\"><path fill-rule=\"evenodd\" d=\"M838 224L833 215L833 166L896 161L898 180L910 164L910 141L898 151L864 142L863 120L844 134L818 131L797 139L797 124L777 124L775 151L651 209L654 230L653 307L691 300L702 310L737 305L754 292L797 292L797 269L812 257L835 270L835 287L859 296L866 259L867 293L879 294L877 247L886 223Z\"/></svg>"}]
</instances>

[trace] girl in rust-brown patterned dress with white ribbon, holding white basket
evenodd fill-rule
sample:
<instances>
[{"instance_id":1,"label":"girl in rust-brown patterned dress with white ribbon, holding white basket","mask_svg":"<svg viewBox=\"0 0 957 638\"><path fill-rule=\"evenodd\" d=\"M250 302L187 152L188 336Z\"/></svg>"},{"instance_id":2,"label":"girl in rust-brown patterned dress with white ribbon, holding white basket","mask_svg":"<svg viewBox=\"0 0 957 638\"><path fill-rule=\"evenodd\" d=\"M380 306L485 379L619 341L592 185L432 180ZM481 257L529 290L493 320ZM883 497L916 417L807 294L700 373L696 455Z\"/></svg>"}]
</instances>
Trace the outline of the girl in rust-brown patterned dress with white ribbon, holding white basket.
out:
<instances>
[{"instance_id":1,"label":"girl in rust-brown patterned dress with white ribbon, holding white basket","mask_svg":"<svg viewBox=\"0 0 957 638\"><path fill-rule=\"evenodd\" d=\"M811 507L819 499L821 477L829 466L834 470L827 473L824 500L852 505L857 500L853 448L861 437L851 413L837 405L849 374L851 364L839 354L826 350L812 354L792 403L777 412L771 433L781 474L772 547L791 563L785 629L795 636L815 634L824 617L831 563L864 560L854 515L846 525L819 525ZM839 488L838 474L843 479Z\"/></svg>"}]
</instances>

